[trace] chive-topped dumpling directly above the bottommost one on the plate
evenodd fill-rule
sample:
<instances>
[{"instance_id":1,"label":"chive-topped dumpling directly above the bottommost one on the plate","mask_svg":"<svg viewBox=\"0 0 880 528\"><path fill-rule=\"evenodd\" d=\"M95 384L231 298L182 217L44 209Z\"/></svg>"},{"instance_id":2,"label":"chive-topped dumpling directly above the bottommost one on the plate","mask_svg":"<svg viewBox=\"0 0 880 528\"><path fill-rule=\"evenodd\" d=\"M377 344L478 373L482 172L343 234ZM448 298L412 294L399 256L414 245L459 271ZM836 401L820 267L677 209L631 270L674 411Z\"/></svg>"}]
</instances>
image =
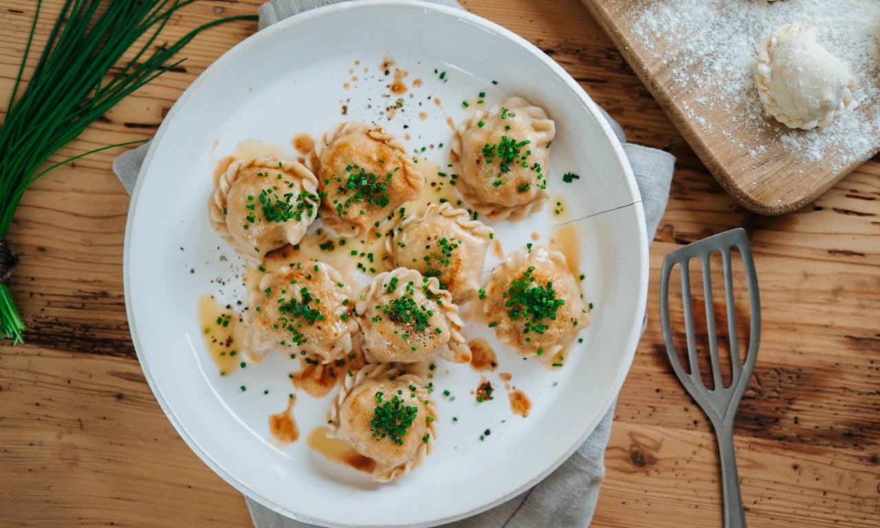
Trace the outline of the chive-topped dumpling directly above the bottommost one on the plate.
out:
<instances>
[{"instance_id":1,"label":"chive-topped dumpling directly above the bottommost one on the plate","mask_svg":"<svg viewBox=\"0 0 880 528\"><path fill-rule=\"evenodd\" d=\"M436 277L407 268L380 273L355 305L363 354L370 362L416 363L437 356L470 360L458 306Z\"/></svg>"}]
</instances>

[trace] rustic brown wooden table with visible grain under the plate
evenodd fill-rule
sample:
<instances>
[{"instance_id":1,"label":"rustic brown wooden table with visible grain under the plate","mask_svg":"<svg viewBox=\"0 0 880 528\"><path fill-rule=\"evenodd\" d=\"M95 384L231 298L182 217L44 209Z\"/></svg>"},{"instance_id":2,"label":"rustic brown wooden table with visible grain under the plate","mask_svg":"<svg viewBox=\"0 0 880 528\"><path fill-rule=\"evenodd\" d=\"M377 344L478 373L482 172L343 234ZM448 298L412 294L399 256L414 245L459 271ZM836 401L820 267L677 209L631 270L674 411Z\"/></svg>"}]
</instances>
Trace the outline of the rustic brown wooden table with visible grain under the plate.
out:
<instances>
[{"instance_id":1,"label":"rustic brown wooden table with visible grain under the plate","mask_svg":"<svg viewBox=\"0 0 880 528\"><path fill-rule=\"evenodd\" d=\"M62 2L43 4L57 12ZM651 246L649 326L620 393L593 525L721 525L715 437L665 359L657 284L665 253L737 226L752 240L763 309L736 426L747 521L880 524L880 159L795 213L757 216L724 194L577 0L463 4L554 57L630 141L678 157ZM259 5L202 0L167 34ZM33 0L0 8L0 100L32 14ZM238 22L203 33L180 71L129 97L57 159L149 137L187 84L255 30ZM25 345L0 344L0 525L247 526L241 495L181 441L137 363L122 289L128 194L110 169L118 153L49 173L12 227L21 262L11 289L27 332Z\"/></svg>"}]
</instances>

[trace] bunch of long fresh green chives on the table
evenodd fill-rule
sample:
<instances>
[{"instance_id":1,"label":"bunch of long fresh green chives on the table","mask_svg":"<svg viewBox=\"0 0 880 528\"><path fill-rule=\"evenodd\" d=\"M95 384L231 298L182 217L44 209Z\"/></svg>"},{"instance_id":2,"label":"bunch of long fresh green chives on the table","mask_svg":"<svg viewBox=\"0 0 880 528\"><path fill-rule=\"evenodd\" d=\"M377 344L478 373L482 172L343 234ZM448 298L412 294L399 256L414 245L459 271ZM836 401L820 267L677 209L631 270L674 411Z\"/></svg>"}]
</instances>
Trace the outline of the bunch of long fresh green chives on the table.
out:
<instances>
[{"instance_id":1,"label":"bunch of long fresh green chives on the table","mask_svg":"<svg viewBox=\"0 0 880 528\"><path fill-rule=\"evenodd\" d=\"M173 44L156 45L172 14L194 1L66 0L33 75L24 85L22 77L42 4L37 0L25 54L0 125L0 338L18 343L25 330L6 283L16 257L5 242L25 189L58 165L121 145L91 150L40 170L48 158L129 93L180 64L182 59L172 62L174 55L203 29L256 18L220 18ZM147 39L135 47L144 34ZM122 61L129 49L135 55Z\"/></svg>"}]
</instances>

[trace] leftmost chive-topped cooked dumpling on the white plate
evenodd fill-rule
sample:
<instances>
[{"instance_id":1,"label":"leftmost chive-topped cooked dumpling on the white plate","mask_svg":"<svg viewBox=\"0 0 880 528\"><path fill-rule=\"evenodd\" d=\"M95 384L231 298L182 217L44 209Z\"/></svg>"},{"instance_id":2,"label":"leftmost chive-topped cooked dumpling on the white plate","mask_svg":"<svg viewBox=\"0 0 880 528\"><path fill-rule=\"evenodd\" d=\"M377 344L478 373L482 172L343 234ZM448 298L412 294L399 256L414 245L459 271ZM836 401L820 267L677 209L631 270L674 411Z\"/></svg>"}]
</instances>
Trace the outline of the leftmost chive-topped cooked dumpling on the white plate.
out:
<instances>
[{"instance_id":1,"label":"leftmost chive-topped cooked dumpling on the white plate","mask_svg":"<svg viewBox=\"0 0 880 528\"><path fill-rule=\"evenodd\" d=\"M297 161L233 161L220 174L209 216L214 229L242 256L259 262L297 244L318 217L318 180Z\"/></svg>"}]
</instances>

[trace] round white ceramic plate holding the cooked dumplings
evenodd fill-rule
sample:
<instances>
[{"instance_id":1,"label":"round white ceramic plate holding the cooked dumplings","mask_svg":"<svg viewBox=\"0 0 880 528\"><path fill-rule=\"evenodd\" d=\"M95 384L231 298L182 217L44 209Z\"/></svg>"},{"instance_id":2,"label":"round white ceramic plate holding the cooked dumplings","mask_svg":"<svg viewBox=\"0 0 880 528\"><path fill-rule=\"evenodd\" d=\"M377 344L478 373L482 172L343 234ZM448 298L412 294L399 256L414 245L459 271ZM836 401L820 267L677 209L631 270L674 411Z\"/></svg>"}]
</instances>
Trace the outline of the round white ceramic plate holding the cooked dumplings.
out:
<instances>
[{"instance_id":1,"label":"round white ceramic plate holding the cooked dumplings","mask_svg":"<svg viewBox=\"0 0 880 528\"><path fill-rule=\"evenodd\" d=\"M387 57L395 64L385 77L380 65ZM389 120L385 106L396 98L385 94L395 68L407 71L408 89L402 109ZM486 107L523 96L556 122L552 201L522 223L493 226L508 252L532 241L535 231L537 243L546 243L560 222L553 214L555 197L565 196L564 217L578 224L581 234L583 291L595 305L583 343L562 369L550 370L494 341L500 368L487 377L496 397L481 404L469 394L480 373L441 364L434 379L440 414L436 450L391 484L375 484L305 444L304 437L323 422L329 399L301 396L295 414L302 437L276 448L268 441L268 415L284 409L292 392L286 374L297 370L297 363L269 356L221 378L196 317L202 294L231 300L243 293L242 261L208 221L216 160L242 140L287 145L298 133L319 136L335 123L363 120L408 137L409 148L424 146L423 156L445 165L448 121L466 119L480 92ZM471 105L463 106L464 100ZM576 172L580 180L564 183L564 172ZM246 495L290 517L328 526L449 522L503 502L552 472L596 427L620 389L647 290L639 200L620 144L597 106L555 62L517 35L435 4L362 1L308 11L231 49L189 87L159 128L128 217L131 334L150 387L180 436ZM487 268L495 262L490 259ZM468 329L471 337L492 337L485 327ZM497 378L502 371L531 398L528 417L511 413ZM240 385L251 390L241 392ZM444 390L456 400L442 397ZM480 441L485 429L492 434Z\"/></svg>"}]
</instances>

